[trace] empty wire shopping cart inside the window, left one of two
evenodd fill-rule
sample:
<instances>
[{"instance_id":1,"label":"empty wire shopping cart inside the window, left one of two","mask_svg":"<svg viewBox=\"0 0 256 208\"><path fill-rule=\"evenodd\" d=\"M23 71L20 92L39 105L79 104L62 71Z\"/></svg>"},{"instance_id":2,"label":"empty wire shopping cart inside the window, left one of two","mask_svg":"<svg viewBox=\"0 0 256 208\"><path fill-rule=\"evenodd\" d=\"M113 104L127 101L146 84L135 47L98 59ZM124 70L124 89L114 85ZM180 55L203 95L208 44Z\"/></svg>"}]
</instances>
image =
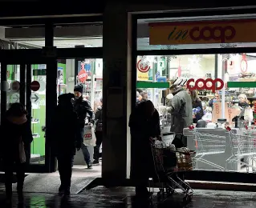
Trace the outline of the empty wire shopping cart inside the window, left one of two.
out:
<instances>
[{"instance_id":1,"label":"empty wire shopping cart inside the window, left one of two","mask_svg":"<svg viewBox=\"0 0 256 208\"><path fill-rule=\"evenodd\" d=\"M195 168L198 169L198 162L203 162L209 166L213 166L218 170L225 170L225 167L216 163L209 162L204 157L209 154L223 154L226 150L226 136L205 134L198 132L194 126L189 126L189 130L193 132L193 140L197 152L195 158Z\"/></svg>"}]
</instances>

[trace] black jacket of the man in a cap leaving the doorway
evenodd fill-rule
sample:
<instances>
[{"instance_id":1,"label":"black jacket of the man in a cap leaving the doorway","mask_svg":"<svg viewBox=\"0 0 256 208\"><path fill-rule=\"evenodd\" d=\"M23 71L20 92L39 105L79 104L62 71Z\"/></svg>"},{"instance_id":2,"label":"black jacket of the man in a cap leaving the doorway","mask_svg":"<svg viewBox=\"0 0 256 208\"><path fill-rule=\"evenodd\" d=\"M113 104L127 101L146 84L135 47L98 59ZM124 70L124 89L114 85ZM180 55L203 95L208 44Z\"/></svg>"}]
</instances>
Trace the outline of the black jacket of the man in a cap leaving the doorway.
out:
<instances>
[{"instance_id":1,"label":"black jacket of the man in a cap leaving the doorway","mask_svg":"<svg viewBox=\"0 0 256 208\"><path fill-rule=\"evenodd\" d=\"M94 123L95 121L95 114L94 111L91 109L91 106L89 105L89 102L83 100L83 96L75 100L74 105L75 113L78 116L79 119L79 127L83 128L85 124L85 118L87 117L87 114L90 116L90 122Z\"/></svg>"}]
</instances>

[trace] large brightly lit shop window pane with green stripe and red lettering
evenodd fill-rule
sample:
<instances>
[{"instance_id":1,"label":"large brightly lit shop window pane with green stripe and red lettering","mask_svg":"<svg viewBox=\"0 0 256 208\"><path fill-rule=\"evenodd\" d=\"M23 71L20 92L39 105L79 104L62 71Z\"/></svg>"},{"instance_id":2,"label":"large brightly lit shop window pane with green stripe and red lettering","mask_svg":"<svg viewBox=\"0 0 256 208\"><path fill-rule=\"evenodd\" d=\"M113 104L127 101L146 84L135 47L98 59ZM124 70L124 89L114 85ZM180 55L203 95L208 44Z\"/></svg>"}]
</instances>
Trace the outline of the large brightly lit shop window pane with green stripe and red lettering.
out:
<instances>
[{"instance_id":1,"label":"large brightly lit shop window pane with green stripe and red lettering","mask_svg":"<svg viewBox=\"0 0 256 208\"><path fill-rule=\"evenodd\" d=\"M140 56L136 69L137 102L143 98L152 100L160 112L162 134L169 133L173 114L168 109L176 96L169 86L174 81L181 84L192 98L193 125L201 127L197 129L199 134L189 128L183 131L189 150L197 151L194 168L251 172L256 169L255 69L256 54ZM226 134L226 126L237 136L232 139ZM241 141L247 147L238 154L239 141L240 147Z\"/></svg>"}]
</instances>

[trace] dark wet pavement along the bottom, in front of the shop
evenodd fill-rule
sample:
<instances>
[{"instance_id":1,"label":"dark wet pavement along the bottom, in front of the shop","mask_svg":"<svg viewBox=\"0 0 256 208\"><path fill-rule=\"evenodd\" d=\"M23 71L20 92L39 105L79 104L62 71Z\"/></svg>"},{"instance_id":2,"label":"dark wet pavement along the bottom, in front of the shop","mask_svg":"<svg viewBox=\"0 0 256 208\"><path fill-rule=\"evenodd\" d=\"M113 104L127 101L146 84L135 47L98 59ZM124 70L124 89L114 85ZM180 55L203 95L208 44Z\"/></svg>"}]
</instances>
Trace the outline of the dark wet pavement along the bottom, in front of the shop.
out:
<instances>
[{"instance_id":1,"label":"dark wet pavement along the bottom, in front of the shop","mask_svg":"<svg viewBox=\"0 0 256 208\"><path fill-rule=\"evenodd\" d=\"M195 190L191 202L183 202L182 198L174 195L165 202L157 202L152 198L152 205L137 202L133 188L116 187L107 189L97 187L85 190L81 194L71 194L70 198L63 199L57 194L26 193L26 205L22 207L48 208L48 207L175 207L175 208L249 208L256 207L256 193L218 190ZM17 206L17 195L14 194L13 207ZM4 204L4 193L0 192L0 207Z\"/></svg>"}]
</instances>

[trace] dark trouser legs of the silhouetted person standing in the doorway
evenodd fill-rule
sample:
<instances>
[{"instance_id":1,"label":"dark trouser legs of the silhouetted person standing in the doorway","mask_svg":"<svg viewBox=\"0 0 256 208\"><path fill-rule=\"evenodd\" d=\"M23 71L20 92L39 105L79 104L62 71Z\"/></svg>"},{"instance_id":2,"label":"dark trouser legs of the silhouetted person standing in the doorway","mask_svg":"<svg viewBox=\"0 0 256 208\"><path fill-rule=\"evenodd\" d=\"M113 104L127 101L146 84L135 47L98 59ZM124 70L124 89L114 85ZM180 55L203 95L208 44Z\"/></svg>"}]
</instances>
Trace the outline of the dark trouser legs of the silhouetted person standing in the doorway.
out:
<instances>
[{"instance_id":1,"label":"dark trouser legs of the silhouetted person standing in the doorway","mask_svg":"<svg viewBox=\"0 0 256 208\"><path fill-rule=\"evenodd\" d=\"M74 156L70 154L60 154L57 156L62 190L70 190L73 158Z\"/></svg>"}]
</instances>

